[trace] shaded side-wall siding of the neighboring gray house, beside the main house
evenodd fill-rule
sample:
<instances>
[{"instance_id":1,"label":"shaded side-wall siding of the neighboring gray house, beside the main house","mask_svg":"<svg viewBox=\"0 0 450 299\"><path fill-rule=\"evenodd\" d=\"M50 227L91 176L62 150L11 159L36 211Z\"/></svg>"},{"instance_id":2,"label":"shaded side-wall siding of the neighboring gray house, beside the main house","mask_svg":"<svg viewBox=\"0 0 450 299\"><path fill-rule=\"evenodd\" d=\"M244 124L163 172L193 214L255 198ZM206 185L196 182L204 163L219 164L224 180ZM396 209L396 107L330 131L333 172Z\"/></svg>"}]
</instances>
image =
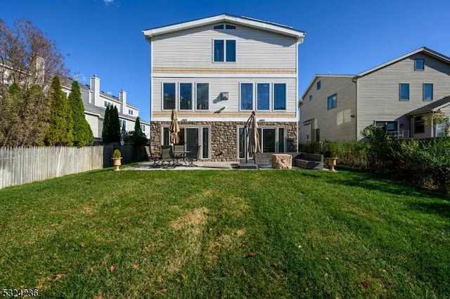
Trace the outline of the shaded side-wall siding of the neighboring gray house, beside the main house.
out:
<instances>
[{"instance_id":1,"label":"shaded side-wall siding of the neighboring gray house, beside the main house","mask_svg":"<svg viewBox=\"0 0 450 299\"><path fill-rule=\"evenodd\" d=\"M321 89L316 89L321 81ZM356 121L351 115L356 114L356 84L352 77L317 77L306 93L301 108L300 124L309 119L311 122L311 141L316 140L315 130L320 129L320 140L349 140L356 137ZM327 109L328 96L335 94L337 107ZM309 100L309 95L312 99ZM303 126L300 126L301 128ZM304 132L301 133L304 136ZM301 140L304 142L304 140Z\"/></svg>"}]
</instances>

